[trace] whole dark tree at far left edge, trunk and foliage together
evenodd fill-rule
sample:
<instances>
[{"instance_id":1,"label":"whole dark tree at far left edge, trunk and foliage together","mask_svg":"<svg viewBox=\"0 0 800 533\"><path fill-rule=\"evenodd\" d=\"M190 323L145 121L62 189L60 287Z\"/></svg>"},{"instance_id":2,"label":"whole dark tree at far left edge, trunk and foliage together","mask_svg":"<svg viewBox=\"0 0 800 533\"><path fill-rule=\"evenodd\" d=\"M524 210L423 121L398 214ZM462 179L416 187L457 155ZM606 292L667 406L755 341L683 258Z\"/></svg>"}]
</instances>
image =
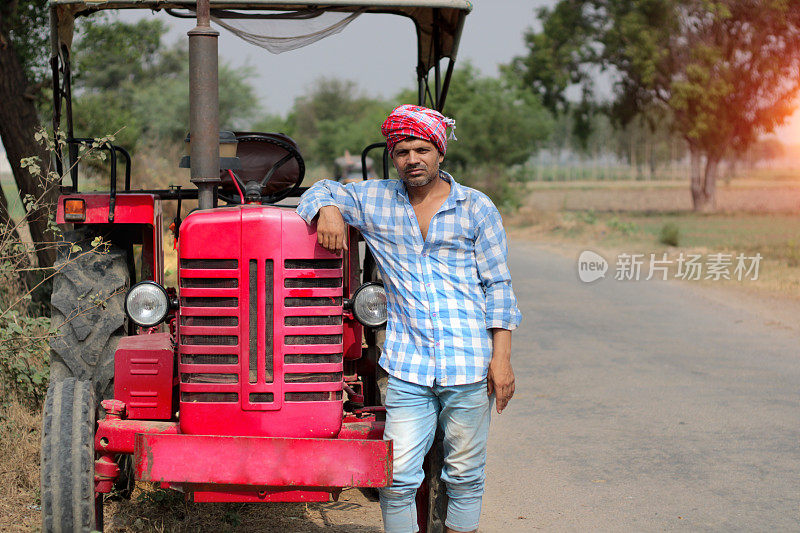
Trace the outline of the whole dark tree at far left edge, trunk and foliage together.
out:
<instances>
[{"instance_id":1,"label":"whole dark tree at far left edge, trunk and foliage together","mask_svg":"<svg viewBox=\"0 0 800 533\"><path fill-rule=\"evenodd\" d=\"M47 150L35 142L40 128L37 102L47 86L47 0L14 0L0 4L0 139L6 150L21 197L41 197L54 202L57 191L22 167L20 162L38 157L49 161ZM0 191L0 217L9 220L8 201ZM48 230L48 211L29 213L28 228L36 244L40 267L55 261L55 236Z\"/></svg>"}]
</instances>

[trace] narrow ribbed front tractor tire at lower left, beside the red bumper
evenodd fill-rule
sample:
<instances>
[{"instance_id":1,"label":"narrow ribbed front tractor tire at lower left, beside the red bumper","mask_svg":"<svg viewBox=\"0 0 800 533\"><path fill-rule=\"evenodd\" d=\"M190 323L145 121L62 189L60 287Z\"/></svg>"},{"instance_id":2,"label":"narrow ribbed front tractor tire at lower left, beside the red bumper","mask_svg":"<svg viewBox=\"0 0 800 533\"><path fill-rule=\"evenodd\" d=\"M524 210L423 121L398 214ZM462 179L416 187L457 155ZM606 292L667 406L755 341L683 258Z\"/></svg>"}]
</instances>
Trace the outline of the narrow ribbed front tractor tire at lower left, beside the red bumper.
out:
<instances>
[{"instance_id":1,"label":"narrow ribbed front tractor tire at lower left, beside the red bumper","mask_svg":"<svg viewBox=\"0 0 800 533\"><path fill-rule=\"evenodd\" d=\"M50 384L42 420L42 530L103 530L103 495L95 498L95 392L67 378Z\"/></svg>"}]
</instances>

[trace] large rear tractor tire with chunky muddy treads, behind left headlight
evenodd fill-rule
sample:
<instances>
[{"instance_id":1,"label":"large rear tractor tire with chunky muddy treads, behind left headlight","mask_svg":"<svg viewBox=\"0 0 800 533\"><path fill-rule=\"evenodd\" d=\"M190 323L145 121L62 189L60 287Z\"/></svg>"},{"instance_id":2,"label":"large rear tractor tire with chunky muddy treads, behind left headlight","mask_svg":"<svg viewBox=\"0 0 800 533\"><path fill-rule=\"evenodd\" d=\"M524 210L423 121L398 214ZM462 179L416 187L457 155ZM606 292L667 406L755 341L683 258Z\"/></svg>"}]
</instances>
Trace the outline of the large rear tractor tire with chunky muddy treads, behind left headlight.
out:
<instances>
[{"instance_id":1,"label":"large rear tractor tire with chunky muddy treads, behind left headlight","mask_svg":"<svg viewBox=\"0 0 800 533\"><path fill-rule=\"evenodd\" d=\"M59 331L50 343L50 375L51 381L90 381L103 399L113 395L114 352L126 334L125 293L131 276L125 251L114 245L93 247L98 236L93 228L79 228L66 232L59 247L50 298Z\"/></svg>"}]
</instances>

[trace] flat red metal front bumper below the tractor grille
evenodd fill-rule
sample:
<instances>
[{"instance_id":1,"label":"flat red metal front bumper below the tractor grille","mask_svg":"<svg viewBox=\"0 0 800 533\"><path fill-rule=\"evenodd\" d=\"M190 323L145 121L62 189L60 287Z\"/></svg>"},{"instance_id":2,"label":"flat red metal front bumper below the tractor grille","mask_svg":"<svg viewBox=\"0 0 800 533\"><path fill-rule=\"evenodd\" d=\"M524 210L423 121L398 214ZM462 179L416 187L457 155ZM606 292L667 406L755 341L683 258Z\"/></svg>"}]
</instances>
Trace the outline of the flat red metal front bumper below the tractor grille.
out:
<instances>
[{"instance_id":1,"label":"flat red metal front bumper below the tractor grille","mask_svg":"<svg viewBox=\"0 0 800 533\"><path fill-rule=\"evenodd\" d=\"M115 415L98 423L98 454L133 454L137 481L205 494L205 501L232 501L208 499L213 493L242 495L233 501L258 501L259 494L262 501L264 494L275 496L267 501L296 501L303 491L327 500L343 487L384 487L392 480L392 442L382 439L383 422L374 419L346 418L339 438L309 439L187 435L175 422ZM110 488L110 477L103 477L98 492L107 492L100 487Z\"/></svg>"}]
</instances>

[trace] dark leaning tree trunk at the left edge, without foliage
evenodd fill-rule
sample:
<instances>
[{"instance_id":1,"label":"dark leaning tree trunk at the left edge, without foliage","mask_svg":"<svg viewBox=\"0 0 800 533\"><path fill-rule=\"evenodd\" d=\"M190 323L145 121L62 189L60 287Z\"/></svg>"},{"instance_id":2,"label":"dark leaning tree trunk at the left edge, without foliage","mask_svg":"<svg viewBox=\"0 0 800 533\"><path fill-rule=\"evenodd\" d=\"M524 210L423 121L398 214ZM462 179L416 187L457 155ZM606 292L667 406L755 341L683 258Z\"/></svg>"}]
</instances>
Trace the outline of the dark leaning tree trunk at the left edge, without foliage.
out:
<instances>
[{"instance_id":1,"label":"dark leaning tree trunk at the left edge, without foliage","mask_svg":"<svg viewBox=\"0 0 800 533\"><path fill-rule=\"evenodd\" d=\"M22 64L6 35L0 35L0 139L6 149L14 181L20 198L32 195L40 198L47 207L28 213L28 227L36 244L36 257L40 267L52 266L55 261L55 235L47 229L50 209L58 198L58 190L51 184L45 190L44 183L31 176L20 165L20 160L38 156L45 174L50 163L50 154L34 140L39 128L39 118L33 99L26 96L28 82Z\"/></svg>"}]
</instances>

